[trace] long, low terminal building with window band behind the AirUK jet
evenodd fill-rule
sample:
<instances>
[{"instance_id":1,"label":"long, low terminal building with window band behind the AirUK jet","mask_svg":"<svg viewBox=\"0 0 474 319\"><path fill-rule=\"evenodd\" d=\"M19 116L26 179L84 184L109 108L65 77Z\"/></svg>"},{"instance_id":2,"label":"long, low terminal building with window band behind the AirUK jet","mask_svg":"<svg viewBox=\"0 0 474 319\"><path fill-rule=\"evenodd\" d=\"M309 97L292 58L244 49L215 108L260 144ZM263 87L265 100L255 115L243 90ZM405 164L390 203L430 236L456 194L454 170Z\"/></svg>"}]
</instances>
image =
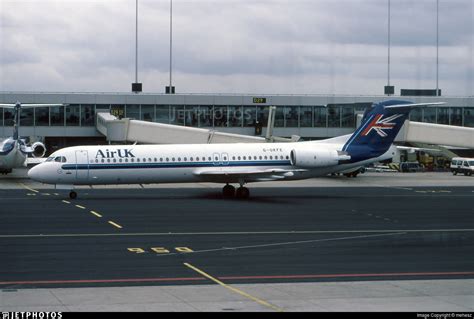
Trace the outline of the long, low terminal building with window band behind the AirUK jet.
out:
<instances>
[{"instance_id":1,"label":"long, low terminal building with window band behind the AirUK jet","mask_svg":"<svg viewBox=\"0 0 474 319\"><path fill-rule=\"evenodd\" d=\"M0 103L66 104L21 110L21 136L43 141L48 153L66 146L108 143L97 129L98 114L103 112L118 118L265 136L268 110L275 106L273 135L312 140L352 133L357 114L387 99L445 102L412 111L410 121L474 127L473 96L0 93ZM12 127L12 110L0 108L0 137L11 136Z\"/></svg>"}]
</instances>

